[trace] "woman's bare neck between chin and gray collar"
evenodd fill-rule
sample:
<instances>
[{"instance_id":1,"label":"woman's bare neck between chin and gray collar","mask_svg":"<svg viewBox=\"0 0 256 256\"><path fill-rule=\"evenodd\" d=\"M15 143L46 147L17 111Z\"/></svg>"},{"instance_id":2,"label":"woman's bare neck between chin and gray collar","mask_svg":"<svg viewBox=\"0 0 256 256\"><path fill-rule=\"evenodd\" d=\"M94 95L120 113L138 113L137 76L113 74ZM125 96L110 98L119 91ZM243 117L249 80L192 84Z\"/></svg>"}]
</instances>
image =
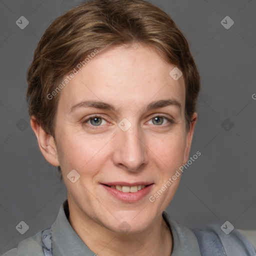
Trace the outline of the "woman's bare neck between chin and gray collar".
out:
<instances>
[{"instance_id":1,"label":"woman's bare neck between chin and gray collar","mask_svg":"<svg viewBox=\"0 0 256 256\"><path fill-rule=\"evenodd\" d=\"M81 240L98 255L162 255L170 256L172 236L160 215L146 230L133 233L115 233L92 220L68 201L68 221Z\"/></svg>"}]
</instances>

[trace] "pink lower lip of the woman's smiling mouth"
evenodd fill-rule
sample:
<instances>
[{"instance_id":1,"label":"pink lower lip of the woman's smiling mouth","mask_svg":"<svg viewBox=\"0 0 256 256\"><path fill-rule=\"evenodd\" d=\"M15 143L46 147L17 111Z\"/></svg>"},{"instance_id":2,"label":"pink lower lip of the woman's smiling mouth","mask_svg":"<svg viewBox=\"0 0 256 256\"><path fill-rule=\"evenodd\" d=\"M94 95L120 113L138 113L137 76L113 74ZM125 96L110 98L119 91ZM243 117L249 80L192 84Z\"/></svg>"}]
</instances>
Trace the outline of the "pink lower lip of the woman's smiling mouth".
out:
<instances>
[{"instance_id":1,"label":"pink lower lip of the woman's smiling mouth","mask_svg":"<svg viewBox=\"0 0 256 256\"><path fill-rule=\"evenodd\" d=\"M131 193L131 192L122 192L115 188L111 188L109 186L101 184L106 191L108 191L111 195L113 195L115 198L119 199L120 201L124 202L136 202L143 197L145 197L151 190L153 183L150 185L145 186L144 188L138 190L137 192Z\"/></svg>"}]
</instances>

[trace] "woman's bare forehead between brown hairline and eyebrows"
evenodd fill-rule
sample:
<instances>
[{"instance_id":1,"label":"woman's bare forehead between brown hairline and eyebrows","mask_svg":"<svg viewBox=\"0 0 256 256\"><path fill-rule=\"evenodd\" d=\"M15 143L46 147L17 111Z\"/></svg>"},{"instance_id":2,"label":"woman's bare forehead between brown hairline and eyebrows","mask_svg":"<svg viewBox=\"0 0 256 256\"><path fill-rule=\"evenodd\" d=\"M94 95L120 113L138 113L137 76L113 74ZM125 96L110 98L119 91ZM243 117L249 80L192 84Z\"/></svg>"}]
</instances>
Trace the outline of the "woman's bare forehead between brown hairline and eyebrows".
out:
<instances>
[{"instance_id":1,"label":"woman's bare forehead between brown hairline and eyebrows","mask_svg":"<svg viewBox=\"0 0 256 256\"><path fill-rule=\"evenodd\" d=\"M173 98L184 108L185 86L174 80L166 63L152 48L136 44L96 54L61 90L59 105L66 111L77 102L95 99L126 108L157 99ZM126 104L126 105L125 105Z\"/></svg>"}]
</instances>

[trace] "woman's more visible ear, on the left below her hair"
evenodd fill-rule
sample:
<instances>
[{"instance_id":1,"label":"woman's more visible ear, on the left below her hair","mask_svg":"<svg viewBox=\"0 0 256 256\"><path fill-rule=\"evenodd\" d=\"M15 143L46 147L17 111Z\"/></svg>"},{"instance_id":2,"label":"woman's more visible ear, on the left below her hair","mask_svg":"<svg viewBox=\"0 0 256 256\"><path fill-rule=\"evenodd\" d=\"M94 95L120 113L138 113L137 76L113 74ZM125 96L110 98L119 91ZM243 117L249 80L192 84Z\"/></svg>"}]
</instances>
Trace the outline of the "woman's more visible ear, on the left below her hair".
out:
<instances>
[{"instance_id":1,"label":"woman's more visible ear, on the left below her hair","mask_svg":"<svg viewBox=\"0 0 256 256\"><path fill-rule=\"evenodd\" d=\"M31 116L30 124L37 137L39 148L44 158L52 165L59 166L60 164L57 159L57 150L53 137L43 130L34 116Z\"/></svg>"}]
</instances>

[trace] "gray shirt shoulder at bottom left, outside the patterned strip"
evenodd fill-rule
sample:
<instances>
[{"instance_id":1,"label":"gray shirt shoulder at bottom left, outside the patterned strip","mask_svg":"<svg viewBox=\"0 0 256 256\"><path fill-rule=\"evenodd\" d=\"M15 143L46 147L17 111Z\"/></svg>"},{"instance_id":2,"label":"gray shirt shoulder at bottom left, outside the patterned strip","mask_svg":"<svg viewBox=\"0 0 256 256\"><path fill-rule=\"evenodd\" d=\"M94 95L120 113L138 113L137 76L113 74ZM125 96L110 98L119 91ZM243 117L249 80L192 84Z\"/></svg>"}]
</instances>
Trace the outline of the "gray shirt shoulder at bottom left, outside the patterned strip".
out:
<instances>
[{"instance_id":1,"label":"gray shirt shoulder at bottom left, outside the patterned strip","mask_svg":"<svg viewBox=\"0 0 256 256\"><path fill-rule=\"evenodd\" d=\"M17 248L5 252L2 256L43 256L41 232L22 240Z\"/></svg>"}]
</instances>

